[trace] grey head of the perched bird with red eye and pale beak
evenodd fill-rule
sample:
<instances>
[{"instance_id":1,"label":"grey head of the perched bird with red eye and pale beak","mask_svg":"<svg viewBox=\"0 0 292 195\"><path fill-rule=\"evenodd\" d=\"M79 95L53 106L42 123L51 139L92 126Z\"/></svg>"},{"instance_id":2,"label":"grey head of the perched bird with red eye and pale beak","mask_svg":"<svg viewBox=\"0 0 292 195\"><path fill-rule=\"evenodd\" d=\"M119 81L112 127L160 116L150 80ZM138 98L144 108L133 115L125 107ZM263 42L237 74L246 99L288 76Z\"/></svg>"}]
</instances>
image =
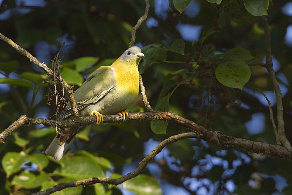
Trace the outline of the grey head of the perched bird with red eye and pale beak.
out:
<instances>
[{"instance_id":1,"label":"grey head of the perched bird with red eye and pale beak","mask_svg":"<svg viewBox=\"0 0 292 195\"><path fill-rule=\"evenodd\" d=\"M124 51L124 53L121 55L121 61L127 63L135 62L138 66L142 56L144 56L144 54L141 53L141 49L137 46L133 46Z\"/></svg>"}]
</instances>

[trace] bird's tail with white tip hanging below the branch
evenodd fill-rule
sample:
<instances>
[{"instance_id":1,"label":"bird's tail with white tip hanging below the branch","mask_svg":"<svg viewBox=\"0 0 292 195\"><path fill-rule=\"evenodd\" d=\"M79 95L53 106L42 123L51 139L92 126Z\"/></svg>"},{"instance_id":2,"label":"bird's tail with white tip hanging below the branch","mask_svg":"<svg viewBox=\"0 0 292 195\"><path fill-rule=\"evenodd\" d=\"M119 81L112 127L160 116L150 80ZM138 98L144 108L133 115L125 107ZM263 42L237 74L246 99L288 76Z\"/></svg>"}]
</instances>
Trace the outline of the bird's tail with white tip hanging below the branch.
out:
<instances>
[{"instance_id":1,"label":"bird's tail with white tip hanging below the branch","mask_svg":"<svg viewBox=\"0 0 292 195\"><path fill-rule=\"evenodd\" d=\"M58 133L46 149L46 154L59 161L73 141L79 127L68 127Z\"/></svg>"}]
</instances>

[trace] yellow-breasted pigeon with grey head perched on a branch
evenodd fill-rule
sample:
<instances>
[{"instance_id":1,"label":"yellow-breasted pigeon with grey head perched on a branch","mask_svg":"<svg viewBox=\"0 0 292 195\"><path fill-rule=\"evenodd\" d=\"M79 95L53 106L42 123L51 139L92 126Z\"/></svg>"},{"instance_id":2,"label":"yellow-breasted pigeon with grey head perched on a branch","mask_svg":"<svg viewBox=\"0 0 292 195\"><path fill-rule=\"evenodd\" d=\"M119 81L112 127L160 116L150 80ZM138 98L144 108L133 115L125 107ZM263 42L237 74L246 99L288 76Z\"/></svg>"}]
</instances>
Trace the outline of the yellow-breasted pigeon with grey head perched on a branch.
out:
<instances>
[{"instance_id":1,"label":"yellow-breasted pigeon with grey head perched on a branch","mask_svg":"<svg viewBox=\"0 0 292 195\"><path fill-rule=\"evenodd\" d=\"M119 114L123 121L128 115L124 110L131 106L139 93L138 65L144 56L137 46L128 48L110 66L101 66L91 73L74 92L80 117L96 116L97 125L103 115ZM72 110L67 108L60 115L62 120L73 119ZM68 127L57 132L46 149L46 154L59 161L74 140L80 127Z\"/></svg>"}]
</instances>

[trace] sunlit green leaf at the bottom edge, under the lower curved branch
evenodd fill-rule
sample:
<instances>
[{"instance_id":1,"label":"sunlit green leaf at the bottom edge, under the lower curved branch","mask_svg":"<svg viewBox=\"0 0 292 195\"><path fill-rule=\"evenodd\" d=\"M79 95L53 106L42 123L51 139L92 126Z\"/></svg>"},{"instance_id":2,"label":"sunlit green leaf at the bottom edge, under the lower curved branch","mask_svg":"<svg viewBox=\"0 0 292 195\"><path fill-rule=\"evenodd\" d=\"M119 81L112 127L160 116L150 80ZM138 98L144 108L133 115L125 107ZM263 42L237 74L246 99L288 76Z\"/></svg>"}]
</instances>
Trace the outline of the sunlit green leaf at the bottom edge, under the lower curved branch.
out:
<instances>
[{"instance_id":1,"label":"sunlit green leaf at the bottom edge, under the lower curved branch","mask_svg":"<svg viewBox=\"0 0 292 195\"><path fill-rule=\"evenodd\" d=\"M158 182L149 175L140 174L123 183L123 188L133 191L135 194L162 194Z\"/></svg>"}]
</instances>

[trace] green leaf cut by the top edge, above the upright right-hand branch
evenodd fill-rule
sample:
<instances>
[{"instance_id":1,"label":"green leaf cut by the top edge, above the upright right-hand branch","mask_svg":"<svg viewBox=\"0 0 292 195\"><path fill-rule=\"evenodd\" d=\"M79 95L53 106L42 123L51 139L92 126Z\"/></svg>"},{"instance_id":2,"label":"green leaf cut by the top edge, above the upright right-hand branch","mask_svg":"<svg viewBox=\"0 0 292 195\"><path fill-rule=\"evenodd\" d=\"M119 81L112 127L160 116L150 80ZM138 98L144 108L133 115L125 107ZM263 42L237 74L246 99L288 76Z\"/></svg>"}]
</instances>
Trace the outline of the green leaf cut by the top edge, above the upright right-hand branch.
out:
<instances>
[{"instance_id":1,"label":"green leaf cut by the top edge, above the upright right-hand branch","mask_svg":"<svg viewBox=\"0 0 292 195\"><path fill-rule=\"evenodd\" d=\"M269 0L244 0L244 6L251 15L268 15Z\"/></svg>"}]
</instances>

